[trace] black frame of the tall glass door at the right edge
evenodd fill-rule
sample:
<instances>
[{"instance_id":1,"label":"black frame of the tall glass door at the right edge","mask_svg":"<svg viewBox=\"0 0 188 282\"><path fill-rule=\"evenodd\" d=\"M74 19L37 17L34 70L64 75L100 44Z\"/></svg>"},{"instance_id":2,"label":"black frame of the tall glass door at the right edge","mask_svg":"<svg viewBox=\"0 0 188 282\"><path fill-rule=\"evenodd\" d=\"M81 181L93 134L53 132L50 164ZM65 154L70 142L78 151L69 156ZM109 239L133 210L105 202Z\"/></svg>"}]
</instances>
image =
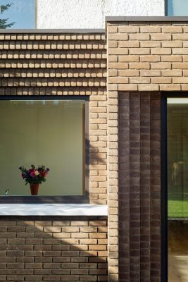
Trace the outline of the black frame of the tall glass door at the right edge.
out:
<instances>
[{"instance_id":1,"label":"black frame of the tall glass door at the right edge","mask_svg":"<svg viewBox=\"0 0 188 282\"><path fill-rule=\"evenodd\" d=\"M188 92L161 92L161 282L168 282L167 98L188 98Z\"/></svg>"}]
</instances>

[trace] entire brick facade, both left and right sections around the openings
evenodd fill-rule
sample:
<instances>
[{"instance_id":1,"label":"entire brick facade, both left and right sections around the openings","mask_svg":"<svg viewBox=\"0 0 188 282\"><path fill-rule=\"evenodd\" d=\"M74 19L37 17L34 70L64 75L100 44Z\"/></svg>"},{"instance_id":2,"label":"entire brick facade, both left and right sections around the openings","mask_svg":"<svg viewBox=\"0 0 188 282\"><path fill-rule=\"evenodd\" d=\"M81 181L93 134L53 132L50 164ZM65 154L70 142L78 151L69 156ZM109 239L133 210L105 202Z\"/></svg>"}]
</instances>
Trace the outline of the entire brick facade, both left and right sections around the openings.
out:
<instances>
[{"instance_id":1,"label":"entire brick facade, both left and right sections around the openings","mask_svg":"<svg viewBox=\"0 0 188 282\"><path fill-rule=\"evenodd\" d=\"M0 35L1 95L89 96L89 197L108 201L108 254L104 218L1 219L2 281L161 281L161 95L187 90L188 24L106 26L108 75L102 34Z\"/></svg>"}]
</instances>

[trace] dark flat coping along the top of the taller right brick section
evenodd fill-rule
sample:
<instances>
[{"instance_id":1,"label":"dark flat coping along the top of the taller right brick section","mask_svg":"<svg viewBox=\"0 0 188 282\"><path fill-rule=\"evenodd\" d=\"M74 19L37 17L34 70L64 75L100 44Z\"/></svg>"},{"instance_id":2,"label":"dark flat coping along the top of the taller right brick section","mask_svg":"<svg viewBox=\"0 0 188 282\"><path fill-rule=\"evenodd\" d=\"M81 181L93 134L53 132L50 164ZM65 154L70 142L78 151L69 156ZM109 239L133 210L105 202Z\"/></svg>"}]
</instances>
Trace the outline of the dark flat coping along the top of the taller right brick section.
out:
<instances>
[{"instance_id":1,"label":"dark flat coping along the top of the taller right brick section","mask_svg":"<svg viewBox=\"0 0 188 282\"><path fill-rule=\"evenodd\" d=\"M106 22L187 22L188 16L107 16Z\"/></svg>"}]
</instances>

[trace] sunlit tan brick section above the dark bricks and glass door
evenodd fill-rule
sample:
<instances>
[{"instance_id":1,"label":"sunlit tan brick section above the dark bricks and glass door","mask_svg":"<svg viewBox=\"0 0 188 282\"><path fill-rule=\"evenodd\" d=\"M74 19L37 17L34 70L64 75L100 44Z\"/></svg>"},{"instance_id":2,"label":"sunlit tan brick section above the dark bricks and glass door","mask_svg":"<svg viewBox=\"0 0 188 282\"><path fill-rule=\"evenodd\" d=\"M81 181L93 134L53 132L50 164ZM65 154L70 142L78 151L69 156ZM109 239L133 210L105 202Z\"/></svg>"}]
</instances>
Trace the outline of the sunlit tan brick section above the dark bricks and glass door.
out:
<instances>
[{"instance_id":1,"label":"sunlit tan brick section above the dark bricks and glass door","mask_svg":"<svg viewBox=\"0 0 188 282\"><path fill-rule=\"evenodd\" d=\"M188 23L108 23L108 90L188 89Z\"/></svg>"}]
</instances>

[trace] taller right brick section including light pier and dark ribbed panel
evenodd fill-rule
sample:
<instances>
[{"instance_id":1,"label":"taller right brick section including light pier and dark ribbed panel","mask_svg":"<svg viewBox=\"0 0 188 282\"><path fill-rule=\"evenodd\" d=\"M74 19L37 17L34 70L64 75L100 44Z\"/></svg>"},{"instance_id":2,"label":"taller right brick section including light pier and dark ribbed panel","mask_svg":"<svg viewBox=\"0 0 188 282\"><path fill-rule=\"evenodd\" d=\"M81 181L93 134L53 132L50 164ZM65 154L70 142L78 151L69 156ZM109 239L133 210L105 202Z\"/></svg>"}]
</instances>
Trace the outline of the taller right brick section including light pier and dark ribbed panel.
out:
<instances>
[{"instance_id":1,"label":"taller right brick section including light pier and dark ribbed panel","mask_svg":"<svg viewBox=\"0 0 188 282\"><path fill-rule=\"evenodd\" d=\"M188 23L112 20L106 32L109 277L159 282L160 93L188 89Z\"/></svg>"}]
</instances>

